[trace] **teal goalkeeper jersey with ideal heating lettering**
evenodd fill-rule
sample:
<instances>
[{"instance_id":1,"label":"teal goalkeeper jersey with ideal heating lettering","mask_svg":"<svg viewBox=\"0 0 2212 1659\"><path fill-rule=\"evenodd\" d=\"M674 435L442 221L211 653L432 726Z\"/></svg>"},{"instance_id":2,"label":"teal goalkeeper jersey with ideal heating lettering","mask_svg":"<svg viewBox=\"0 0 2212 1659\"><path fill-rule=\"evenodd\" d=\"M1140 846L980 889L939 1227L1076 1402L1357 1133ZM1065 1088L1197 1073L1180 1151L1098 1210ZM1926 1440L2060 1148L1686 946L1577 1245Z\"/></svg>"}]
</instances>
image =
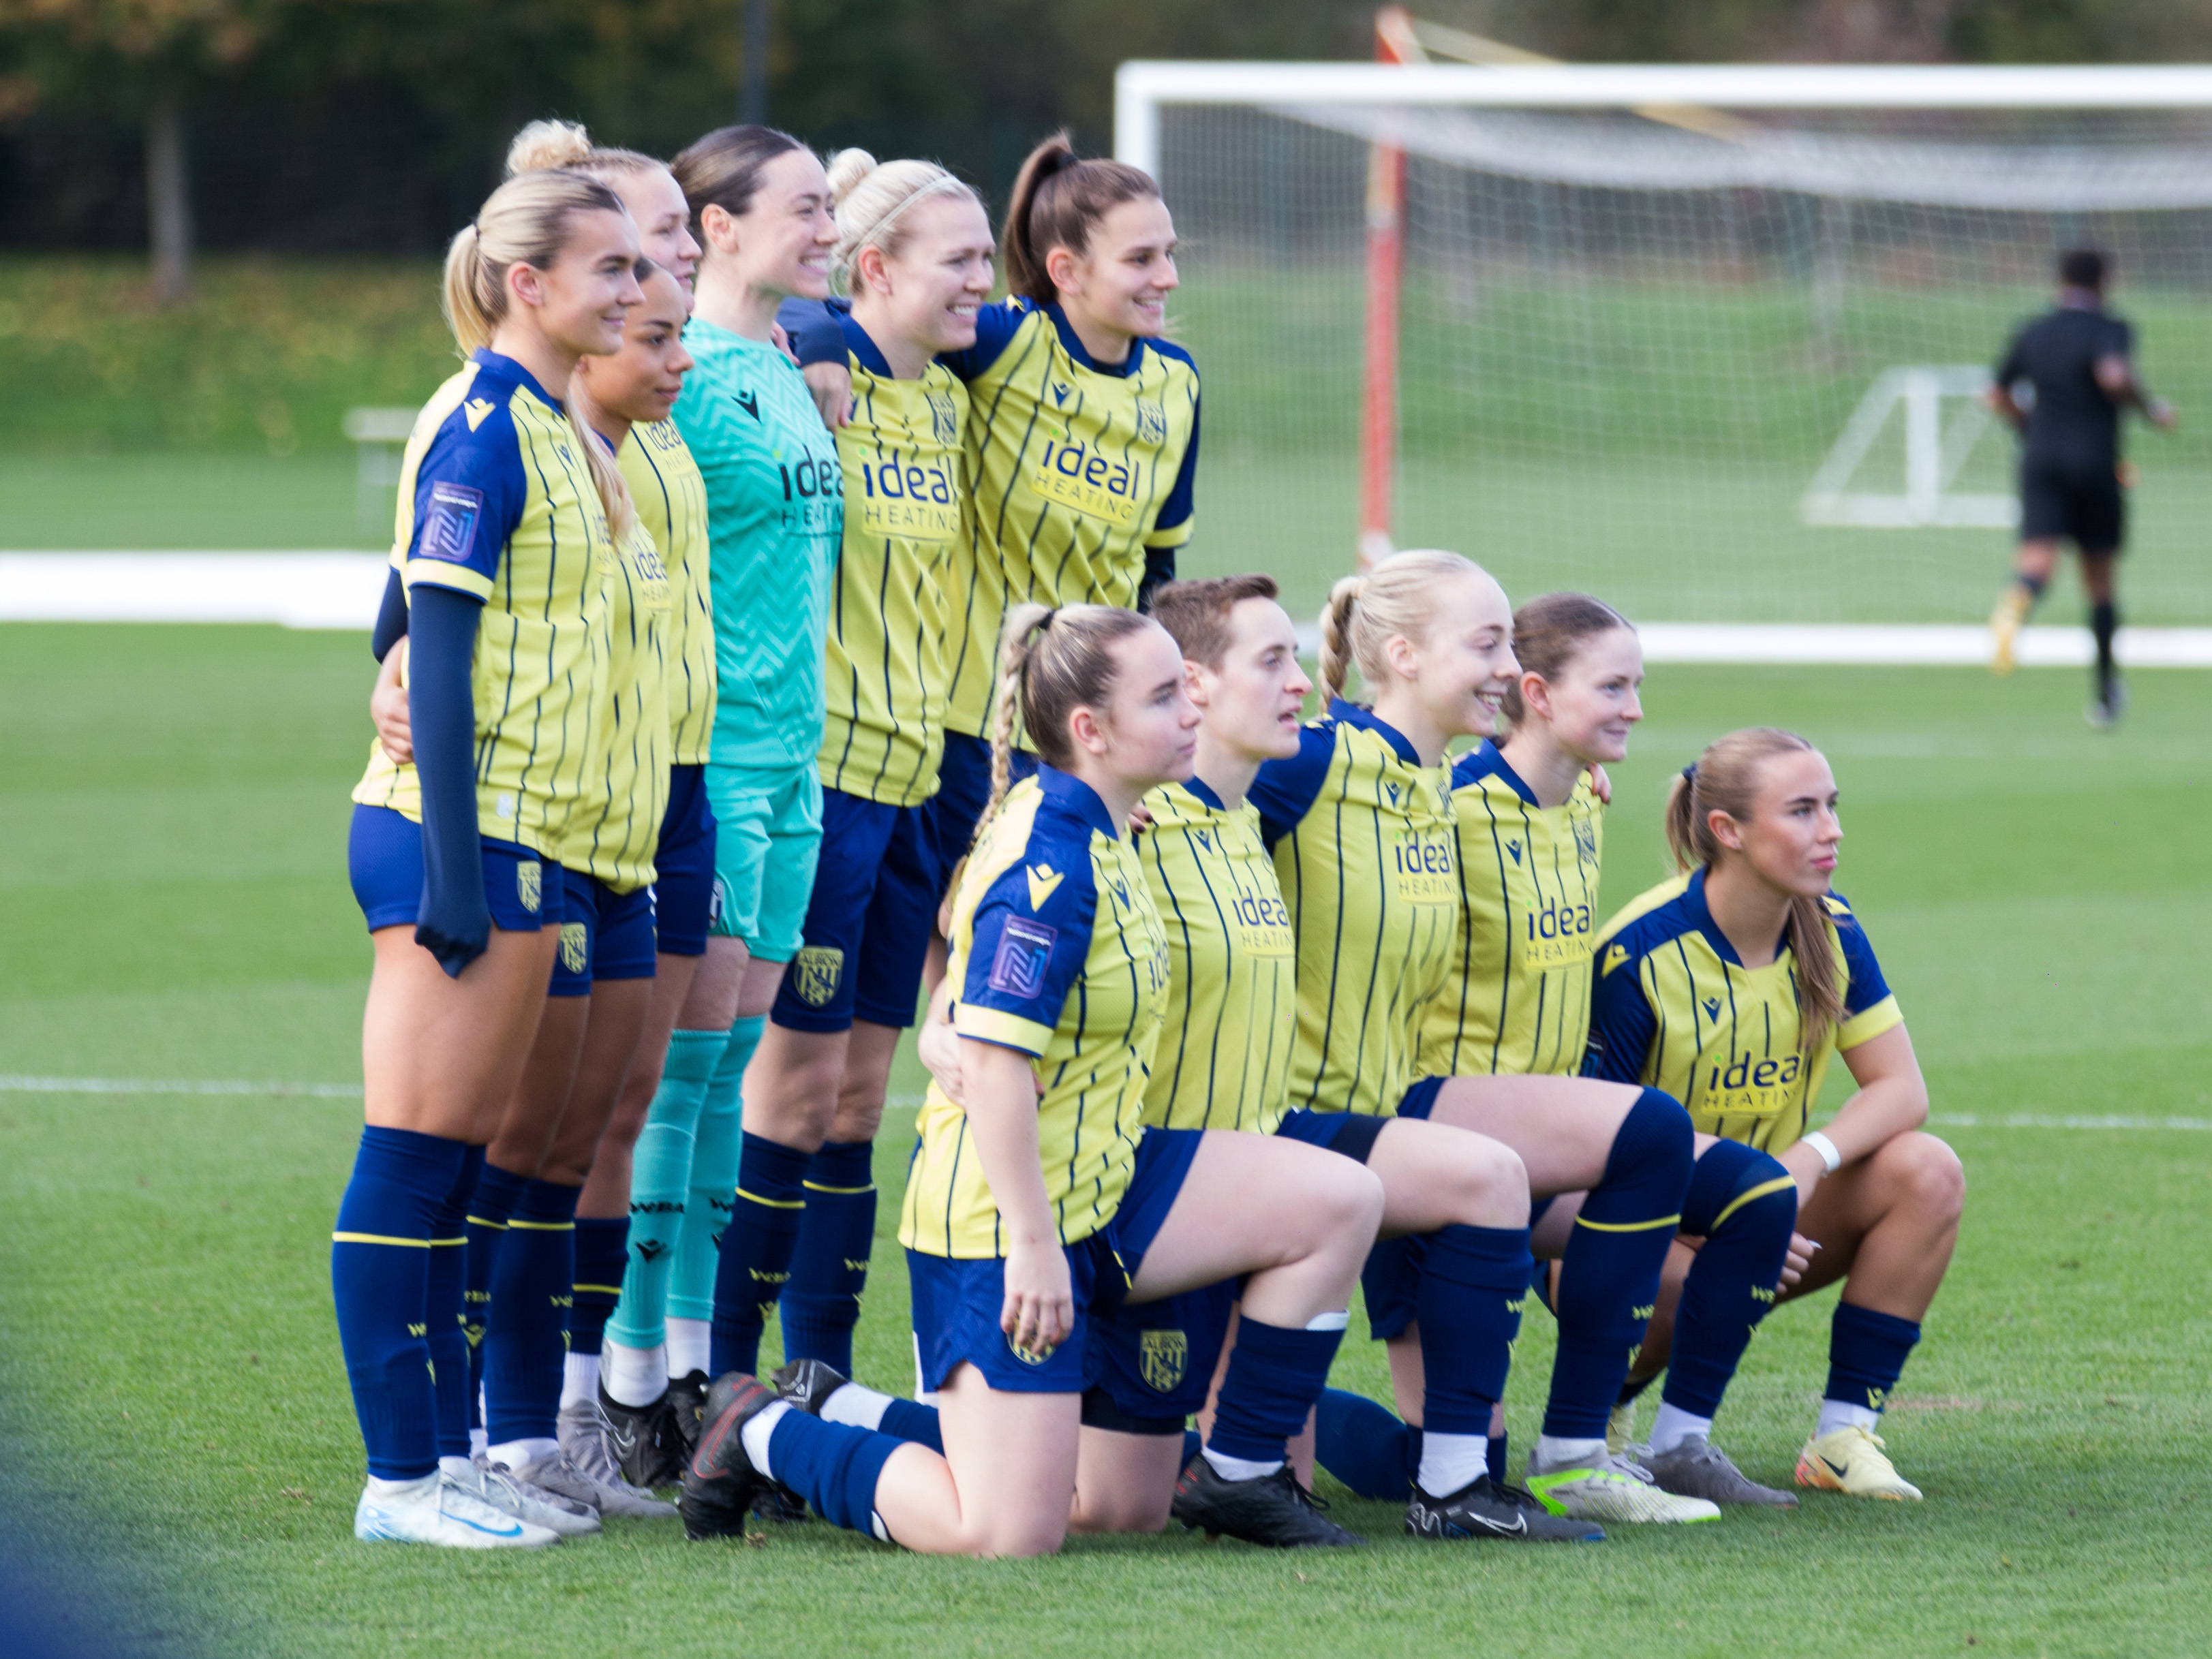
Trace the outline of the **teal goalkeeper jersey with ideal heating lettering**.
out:
<instances>
[{"instance_id":1,"label":"teal goalkeeper jersey with ideal heating lettering","mask_svg":"<svg viewBox=\"0 0 2212 1659\"><path fill-rule=\"evenodd\" d=\"M706 480L717 765L814 765L823 637L845 538L836 438L772 345L692 319L675 420Z\"/></svg>"}]
</instances>

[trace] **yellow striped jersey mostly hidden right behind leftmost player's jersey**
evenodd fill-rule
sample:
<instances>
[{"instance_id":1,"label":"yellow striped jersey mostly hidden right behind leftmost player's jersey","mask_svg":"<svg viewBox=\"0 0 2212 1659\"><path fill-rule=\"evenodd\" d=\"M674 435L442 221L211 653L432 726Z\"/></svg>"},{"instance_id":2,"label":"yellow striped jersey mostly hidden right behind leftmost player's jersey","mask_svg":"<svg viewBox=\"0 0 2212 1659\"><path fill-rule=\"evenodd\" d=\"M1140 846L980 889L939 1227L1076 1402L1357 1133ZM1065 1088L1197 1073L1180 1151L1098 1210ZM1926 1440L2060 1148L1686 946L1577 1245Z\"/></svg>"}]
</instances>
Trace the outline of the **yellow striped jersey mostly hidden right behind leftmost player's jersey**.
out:
<instances>
[{"instance_id":1,"label":"yellow striped jersey mostly hidden right behind leftmost player's jersey","mask_svg":"<svg viewBox=\"0 0 2212 1659\"><path fill-rule=\"evenodd\" d=\"M635 894L653 885L668 812L668 571L644 520L608 560L606 595L606 672L591 686L602 745L557 856Z\"/></svg>"}]
</instances>

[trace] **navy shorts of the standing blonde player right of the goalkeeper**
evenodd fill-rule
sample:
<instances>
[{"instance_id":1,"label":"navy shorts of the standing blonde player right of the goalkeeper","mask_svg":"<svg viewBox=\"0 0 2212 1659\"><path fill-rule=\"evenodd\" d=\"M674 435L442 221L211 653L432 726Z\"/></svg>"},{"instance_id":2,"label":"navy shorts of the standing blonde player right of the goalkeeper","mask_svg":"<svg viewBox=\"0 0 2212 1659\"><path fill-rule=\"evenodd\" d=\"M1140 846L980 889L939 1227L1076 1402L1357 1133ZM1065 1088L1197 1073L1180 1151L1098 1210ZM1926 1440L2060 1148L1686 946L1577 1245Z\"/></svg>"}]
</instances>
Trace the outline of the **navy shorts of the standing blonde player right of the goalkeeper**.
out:
<instances>
[{"instance_id":1,"label":"navy shorts of the standing blonde player right of the goalkeeper","mask_svg":"<svg viewBox=\"0 0 2212 1659\"><path fill-rule=\"evenodd\" d=\"M929 803L887 807L823 790L814 894L770 1020L787 1031L911 1026L942 887Z\"/></svg>"}]
</instances>

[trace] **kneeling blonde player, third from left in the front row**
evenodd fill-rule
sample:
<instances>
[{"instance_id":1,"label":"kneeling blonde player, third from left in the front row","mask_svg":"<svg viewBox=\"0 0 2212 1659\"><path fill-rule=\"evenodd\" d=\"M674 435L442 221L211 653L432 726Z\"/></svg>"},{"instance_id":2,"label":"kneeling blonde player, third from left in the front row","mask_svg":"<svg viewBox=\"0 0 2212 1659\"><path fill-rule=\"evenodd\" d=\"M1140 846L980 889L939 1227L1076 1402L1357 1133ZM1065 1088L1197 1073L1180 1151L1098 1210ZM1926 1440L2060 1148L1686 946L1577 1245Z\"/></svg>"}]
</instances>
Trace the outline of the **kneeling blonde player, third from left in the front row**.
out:
<instances>
[{"instance_id":1,"label":"kneeling blonde player, third from left in the front row","mask_svg":"<svg viewBox=\"0 0 2212 1659\"><path fill-rule=\"evenodd\" d=\"M1352 659L1374 695L1371 710L1343 701ZM1520 1079L1495 1091L1506 1099L1493 1110L1489 1091L1413 1082L1422 1033L1440 1004L1458 1006L1462 982L1467 841L1442 770L1444 745L1462 734L1486 737L1520 679L1506 597L1455 553L1398 553L1371 575L1338 584L1321 677L1329 692L1325 717L1305 730L1301 757L1272 763L1256 790L1298 929L1292 1104L1323 1110L1340 1099L1356 1113L1473 1130L1520 1155L1535 1197L1590 1188L1588 1221L1564 1245L1557 1237L1544 1241L1548 1254L1564 1248L1568 1256L1559 1294L1566 1363L1553 1371L1531 1491L1575 1520L1710 1520L1719 1513L1712 1504L1659 1493L1641 1471L1615 1467L1604 1447L1641 1329L1639 1310L1652 1298L1681 1214L1690 1175L1681 1106L1659 1091ZM1604 759L1562 757L1566 787L1582 787L1588 763ZM1546 781L1555 781L1548 768ZM1433 1338L1416 1329L1418 1303L1433 1294L1433 1261L1431 1241L1387 1241L1365 1274L1369 1325L1389 1343L1407 1422L1425 1416L1425 1398L1436 1400L1422 1365ZM1453 1405L1453 1475L1475 1458L1489 1462L1486 1405L1480 1416L1475 1422L1467 1400ZM1420 1458L1429 1464L1438 1425L1422 1427ZM1431 1478L1447 1475L1431 1469ZM1502 1478L1500 1451L1493 1482ZM1416 1486L1416 1504L1422 1493L1433 1504L1453 1491L1429 1478Z\"/></svg>"}]
</instances>

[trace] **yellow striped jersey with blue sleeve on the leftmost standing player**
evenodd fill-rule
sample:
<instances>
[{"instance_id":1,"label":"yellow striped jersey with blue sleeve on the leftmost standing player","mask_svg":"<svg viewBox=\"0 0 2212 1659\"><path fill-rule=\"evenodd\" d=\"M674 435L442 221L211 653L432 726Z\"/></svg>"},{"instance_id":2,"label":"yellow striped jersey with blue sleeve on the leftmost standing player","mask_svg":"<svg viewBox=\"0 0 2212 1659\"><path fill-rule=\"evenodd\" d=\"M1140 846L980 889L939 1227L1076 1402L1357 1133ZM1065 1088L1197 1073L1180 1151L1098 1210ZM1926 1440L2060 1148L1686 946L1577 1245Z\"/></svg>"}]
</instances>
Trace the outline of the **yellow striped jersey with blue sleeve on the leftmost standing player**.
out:
<instances>
[{"instance_id":1,"label":"yellow striped jersey with blue sleeve on the leftmost standing player","mask_svg":"<svg viewBox=\"0 0 2212 1659\"><path fill-rule=\"evenodd\" d=\"M484 834L560 858L602 761L606 509L562 405L513 358L476 352L431 394L400 462L392 549L407 588L484 606L476 628L476 816ZM354 801L422 818L414 765L380 743Z\"/></svg>"}]
</instances>

